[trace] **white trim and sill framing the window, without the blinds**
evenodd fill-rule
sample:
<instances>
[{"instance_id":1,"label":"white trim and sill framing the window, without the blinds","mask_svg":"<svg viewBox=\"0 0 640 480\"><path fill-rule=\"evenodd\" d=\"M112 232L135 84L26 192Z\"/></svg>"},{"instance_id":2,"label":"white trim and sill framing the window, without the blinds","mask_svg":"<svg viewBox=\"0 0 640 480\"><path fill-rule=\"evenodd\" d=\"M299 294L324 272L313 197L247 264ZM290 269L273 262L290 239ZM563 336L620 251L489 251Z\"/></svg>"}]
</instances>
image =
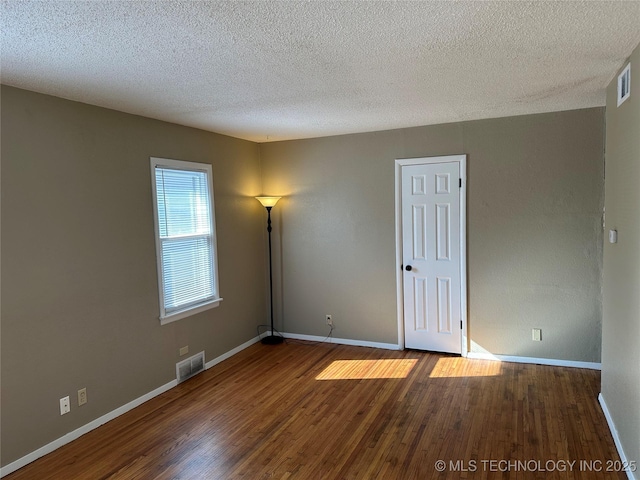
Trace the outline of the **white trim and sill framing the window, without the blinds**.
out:
<instances>
[{"instance_id":1,"label":"white trim and sill framing the window, without the blinds","mask_svg":"<svg viewBox=\"0 0 640 480\"><path fill-rule=\"evenodd\" d=\"M214 192L213 192L213 170L211 165L206 163L186 162L183 160L171 160L168 158L150 158L151 164L151 190L153 199L153 224L155 230L155 244L156 244L156 266L158 273L158 295L159 295L159 307L160 307L160 324L166 325L177 320L190 317L200 312L204 312L211 308L215 308L220 305L222 298L219 296L220 283L218 281L218 247L217 247L217 235L216 235L216 219L214 208ZM216 297L209 300L206 303L197 304L187 307L183 310L173 311L169 314L165 312L164 307L164 284L162 277L162 257L161 257L161 242L160 242L160 227L158 225L158 199L156 190L156 167L167 167L179 170L197 170L207 174L207 181L209 184L209 199L211 204L211 223L212 223L212 248L213 248L213 274L214 274L214 290Z\"/></svg>"}]
</instances>

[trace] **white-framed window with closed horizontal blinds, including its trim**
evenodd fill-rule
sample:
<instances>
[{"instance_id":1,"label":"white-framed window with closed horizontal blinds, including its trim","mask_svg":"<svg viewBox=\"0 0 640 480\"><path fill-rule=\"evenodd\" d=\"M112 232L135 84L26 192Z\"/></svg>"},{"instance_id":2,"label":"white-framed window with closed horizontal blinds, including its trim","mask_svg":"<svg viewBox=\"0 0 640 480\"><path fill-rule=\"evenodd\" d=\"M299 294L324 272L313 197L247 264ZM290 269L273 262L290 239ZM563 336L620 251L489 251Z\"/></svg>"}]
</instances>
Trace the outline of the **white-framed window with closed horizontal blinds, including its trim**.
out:
<instances>
[{"instance_id":1,"label":"white-framed window with closed horizontal blinds, including its trim","mask_svg":"<svg viewBox=\"0 0 640 480\"><path fill-rule=\"evenodd\" d=\"M151 158L162 324L218 306L211 165Z\"/></svg>"}]
</instances>

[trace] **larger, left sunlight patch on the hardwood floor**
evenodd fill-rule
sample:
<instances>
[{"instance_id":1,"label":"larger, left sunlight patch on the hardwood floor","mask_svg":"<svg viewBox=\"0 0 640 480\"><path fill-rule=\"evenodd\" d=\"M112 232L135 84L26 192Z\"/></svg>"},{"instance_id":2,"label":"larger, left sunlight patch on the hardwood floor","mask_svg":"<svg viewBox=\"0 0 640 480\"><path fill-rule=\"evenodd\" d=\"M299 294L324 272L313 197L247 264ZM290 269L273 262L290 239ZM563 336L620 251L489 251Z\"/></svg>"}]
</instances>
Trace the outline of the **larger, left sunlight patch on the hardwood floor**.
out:
<instances>
[{"instance_id":1,"label":"larger, left sunlight patch on the hardwood floor","mask_svg":"<svg viewBox=\"0 0 640 480\"><path fill-rule=\"evenodd\" d=\"M416 359L387 358L380 360L336 360L316 380L365 380L375 378L407 378Z\"/></svg>"}]
</instances>

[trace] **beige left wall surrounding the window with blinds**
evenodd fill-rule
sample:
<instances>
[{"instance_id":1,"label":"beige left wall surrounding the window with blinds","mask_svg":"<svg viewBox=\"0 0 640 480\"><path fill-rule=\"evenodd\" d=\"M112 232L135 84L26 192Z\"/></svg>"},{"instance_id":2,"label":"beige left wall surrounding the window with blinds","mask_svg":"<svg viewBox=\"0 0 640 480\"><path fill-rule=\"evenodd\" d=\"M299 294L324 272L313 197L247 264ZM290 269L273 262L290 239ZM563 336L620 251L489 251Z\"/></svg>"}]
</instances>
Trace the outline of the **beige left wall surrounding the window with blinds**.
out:
<instances>
[{"instance_id":1,"label":"beige left wall surrounding the window with blinds","mask_svg":"<svg viewBox=\"0 0 640 480\"><path fill-rule=\"evenodd\" d=\"M266 320L258 146L2 87L2 465L211 360ZM166 326L149 157L213 165L216 309ZM258 272L256 274L256 272ZM77 407L86 387L89 403ZM70 395L71 413L58 399Z\"/></svg>"}]
</instances>

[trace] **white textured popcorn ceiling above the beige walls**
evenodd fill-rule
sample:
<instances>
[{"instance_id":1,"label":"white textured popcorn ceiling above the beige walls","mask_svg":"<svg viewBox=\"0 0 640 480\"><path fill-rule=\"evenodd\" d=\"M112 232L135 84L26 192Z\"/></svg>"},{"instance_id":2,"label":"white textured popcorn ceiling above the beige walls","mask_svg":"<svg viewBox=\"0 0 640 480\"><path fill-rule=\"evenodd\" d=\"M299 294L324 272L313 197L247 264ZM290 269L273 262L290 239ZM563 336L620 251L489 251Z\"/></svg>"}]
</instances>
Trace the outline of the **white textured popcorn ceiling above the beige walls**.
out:
<instances>
[{"instance_id":1,"label":"white textured popcorn ceiling above the beige walls","mask_svg":"<svg viewBox=\"0 0 640 480\"><path fill-rule=\"evenodd\" d=\"M604 105L640 2L2 0L2 83L258 142Z\"/></svg>"}]
</instances>

